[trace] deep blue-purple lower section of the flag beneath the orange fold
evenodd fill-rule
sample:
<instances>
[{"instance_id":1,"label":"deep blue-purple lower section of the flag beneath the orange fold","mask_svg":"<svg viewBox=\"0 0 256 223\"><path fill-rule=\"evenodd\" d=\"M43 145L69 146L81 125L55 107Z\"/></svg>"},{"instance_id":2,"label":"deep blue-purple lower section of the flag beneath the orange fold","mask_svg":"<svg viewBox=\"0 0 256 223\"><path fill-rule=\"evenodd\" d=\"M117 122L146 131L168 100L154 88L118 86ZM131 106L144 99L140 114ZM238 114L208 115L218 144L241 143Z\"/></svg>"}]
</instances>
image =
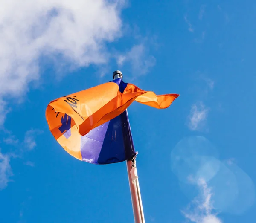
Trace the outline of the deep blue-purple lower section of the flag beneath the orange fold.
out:
<instances>
[{"instance_id":1,"label":"deep blue-purple lower section of the flag beneath the orange fold","mask_svg":"<svg viewBox=\"0 0 256 223\"><path fill-rule=\"evenodd\" d=\"M123 162L135 155L127 111L81 136L82 160L94 164Z\"/></svg>"}]
</instances>

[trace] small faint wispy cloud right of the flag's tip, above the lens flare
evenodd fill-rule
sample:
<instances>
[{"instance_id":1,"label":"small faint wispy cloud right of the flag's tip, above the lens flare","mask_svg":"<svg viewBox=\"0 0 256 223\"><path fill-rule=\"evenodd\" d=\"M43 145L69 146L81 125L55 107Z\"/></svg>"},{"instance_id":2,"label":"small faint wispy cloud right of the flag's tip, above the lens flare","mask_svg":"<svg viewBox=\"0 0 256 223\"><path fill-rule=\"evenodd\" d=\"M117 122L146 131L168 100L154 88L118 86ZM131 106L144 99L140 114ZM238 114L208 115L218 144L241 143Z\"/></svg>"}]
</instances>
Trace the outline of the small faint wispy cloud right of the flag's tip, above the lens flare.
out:
<instances>
[{"instance_id":1,"label":"small faint wispy cloud right of the flag's tip, above the lens flare","mask_svg":"<svg viewBox=\"0 0 256 223\"><path fill-rule=\"evenodd\" d=\"M192 104L188 117L189 129L193 131L201 130L206 125L208 112L209 108L205 107L203 102L199 102L198 104Z\"/></svg>"}]
</instances>

